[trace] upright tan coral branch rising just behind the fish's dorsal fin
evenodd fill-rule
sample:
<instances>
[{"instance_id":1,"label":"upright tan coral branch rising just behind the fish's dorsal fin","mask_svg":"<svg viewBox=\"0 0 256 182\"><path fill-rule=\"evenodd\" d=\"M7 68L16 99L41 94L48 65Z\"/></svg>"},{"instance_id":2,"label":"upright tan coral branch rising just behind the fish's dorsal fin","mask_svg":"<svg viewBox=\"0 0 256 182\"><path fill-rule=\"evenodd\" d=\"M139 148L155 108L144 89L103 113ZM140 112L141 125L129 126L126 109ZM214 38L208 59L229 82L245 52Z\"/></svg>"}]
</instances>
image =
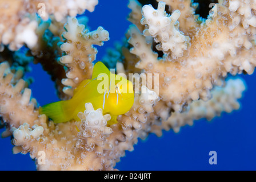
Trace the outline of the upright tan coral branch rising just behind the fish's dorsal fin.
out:
<instances>
[{"instance_id":1,"label":"upright tan coral branch rising just behind the fish's dorsal fin","mask_svg":"<svg viewBox=\"0 0 256 182\"><path fill-rule=\"evenodd\" d=\"M67 19L65 29L67 31L63 33L65 43L61 45L61 49L66 52L66 55L59 61L69 68L66 73L67 78L62 80L62 84L67 86L63 92L73 96L73 89L81 81L91 78L92 63L97 54L97 49L92 45L102 46L103 41L109 40L109 32L102 27L89 32L85 30L85 26L78 24L76 18Z\"/></svg>"}]
</instances>

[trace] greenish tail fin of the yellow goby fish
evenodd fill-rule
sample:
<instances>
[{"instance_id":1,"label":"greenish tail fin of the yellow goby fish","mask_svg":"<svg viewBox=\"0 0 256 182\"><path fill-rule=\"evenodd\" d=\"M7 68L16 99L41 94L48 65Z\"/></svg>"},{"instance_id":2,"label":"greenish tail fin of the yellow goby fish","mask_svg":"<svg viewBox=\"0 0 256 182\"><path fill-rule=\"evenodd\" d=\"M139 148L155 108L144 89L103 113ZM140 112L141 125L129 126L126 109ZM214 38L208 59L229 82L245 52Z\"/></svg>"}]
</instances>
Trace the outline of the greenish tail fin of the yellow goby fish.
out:
<instances>
[{"instance_id":1,"label":"greenish tail fin of the yellow goby fish","mask_svg":"<svg viewBox=\"0 0 256 182\"><path fill-rule=\"evenodd\" d=\"M67 101L53 102L42 106L39 109L39 114L47 115L54 123L67 122L72 119L72 113L68 108Z\"/></svg>"}]
</instances>

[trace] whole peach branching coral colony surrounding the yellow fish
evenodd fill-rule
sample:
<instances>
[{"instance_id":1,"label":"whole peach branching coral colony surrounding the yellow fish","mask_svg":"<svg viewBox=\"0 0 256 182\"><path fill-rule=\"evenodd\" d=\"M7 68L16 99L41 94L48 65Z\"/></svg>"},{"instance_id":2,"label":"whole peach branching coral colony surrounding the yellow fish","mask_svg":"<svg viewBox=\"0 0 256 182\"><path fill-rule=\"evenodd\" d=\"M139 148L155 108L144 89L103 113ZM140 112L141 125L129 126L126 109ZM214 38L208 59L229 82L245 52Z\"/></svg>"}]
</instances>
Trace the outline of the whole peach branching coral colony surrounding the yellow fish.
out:
<instances>
[{"instance_id":1,"label":"whole peach branching coral colony surrounding the yellow fish","mask_svg":"<svg viewBox=\"0 0 256 182\"><path fill-rule=\"evenodd\" d=\"M74 18L93 11L98 1L45 1L42 19L35 18L37 1L21 2L1 1L0 6L15 14L1 11L0 40L11 51L25 44L27 55L51 75L58 96L69 99L92 76L97 55L93 45L109 40L102 27L89 31ZM139 138L150 133L161 136L162 130L178 132L195 119L210 120L239 109L245 85L239 78L225 78L229 73L254 72L253 2L219 1L214 9L217 16L202 20L194 13L197 5L189 0L159 2L157 9L130 0L128 19L133 25L127 42L105 61L111 60L109 67L113 67L117 60L118 73L137 73L131 77L134 105L114 125L107 124L109 114L103 115L102 108L91 103L83 103L85 110L77 113L81 121L57 124L40 115L29 84L22 80L23 72L10 68L15 60L5 48L0 57L0 114L6 126L2 136L13 135L14 153L29 153L38 170L113 170ZM39 152L45 153L45 163Z\"/></svg>"}]
</instances>

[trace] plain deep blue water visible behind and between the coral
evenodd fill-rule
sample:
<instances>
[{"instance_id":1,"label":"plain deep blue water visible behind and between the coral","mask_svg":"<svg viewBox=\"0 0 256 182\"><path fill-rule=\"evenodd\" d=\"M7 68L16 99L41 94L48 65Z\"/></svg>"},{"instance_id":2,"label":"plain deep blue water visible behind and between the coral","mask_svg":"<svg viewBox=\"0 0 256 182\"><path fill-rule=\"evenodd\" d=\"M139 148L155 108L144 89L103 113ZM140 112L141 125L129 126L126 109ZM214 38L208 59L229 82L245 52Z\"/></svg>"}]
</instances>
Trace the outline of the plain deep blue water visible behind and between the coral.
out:
<instances>
[{"instance_id":1,"label":"plain deep blue water visible behind and between the coral","mask_svg":"<svg viewBox=\"0 0 256 182\"><path fill-rule=\"evenodd\" d=\"M127 3L99 0L93 13L85 13L90 30L102 26L110 33L109 42L97 46L97 60L102 59L107 47L114 47L114 42L124 37L130 24L126 20L130 12ZM40 105L58 101L54 84L41 65L31 64L31 67L33 71L26 76L34 77L33 97ZM182 127L179 133L171 130L163 132L160 138L150 134L145 141L139 139L134 151L126 151L116 167L120 170L255 170L255 73L241 77L247 89L240 100L240 110L223 113L211 122L200 119L193 126ZM28 154L12 154L10 138L1 138L0 146L0 170L35 170ZM210 151L217 152L217 165L209 164Z\"/></svg>"}]
</instances>

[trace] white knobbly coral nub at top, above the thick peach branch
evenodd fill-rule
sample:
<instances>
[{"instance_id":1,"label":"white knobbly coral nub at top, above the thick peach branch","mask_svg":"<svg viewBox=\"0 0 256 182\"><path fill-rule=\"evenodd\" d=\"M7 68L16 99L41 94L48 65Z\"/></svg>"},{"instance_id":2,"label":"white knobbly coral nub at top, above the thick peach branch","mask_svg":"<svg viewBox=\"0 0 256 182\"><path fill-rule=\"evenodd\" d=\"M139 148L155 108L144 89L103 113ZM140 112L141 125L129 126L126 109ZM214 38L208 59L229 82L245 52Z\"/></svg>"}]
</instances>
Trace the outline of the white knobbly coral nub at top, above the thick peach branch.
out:
<instances>
[{"instance_id":1,"label":"white knobbly coral nub at top, above the thick peach branch","mask_svg":"<svg viewBox=\"0 0 256 182\"><path fill-rule=\"evenodd\" d=\"M189 37L182 35L178 30L178 18L181 15L179 10L175 10L171 16L165 12L165 2L159 2L155 10L151 5L142 8L143 18L141 24L147 24L149 29L143 31L145 36L153 36L155 42L160 42L156 47L159 51L171 51L173 59L183 56L183 51L187 49Z\"/></svg>"}]
</instances>

